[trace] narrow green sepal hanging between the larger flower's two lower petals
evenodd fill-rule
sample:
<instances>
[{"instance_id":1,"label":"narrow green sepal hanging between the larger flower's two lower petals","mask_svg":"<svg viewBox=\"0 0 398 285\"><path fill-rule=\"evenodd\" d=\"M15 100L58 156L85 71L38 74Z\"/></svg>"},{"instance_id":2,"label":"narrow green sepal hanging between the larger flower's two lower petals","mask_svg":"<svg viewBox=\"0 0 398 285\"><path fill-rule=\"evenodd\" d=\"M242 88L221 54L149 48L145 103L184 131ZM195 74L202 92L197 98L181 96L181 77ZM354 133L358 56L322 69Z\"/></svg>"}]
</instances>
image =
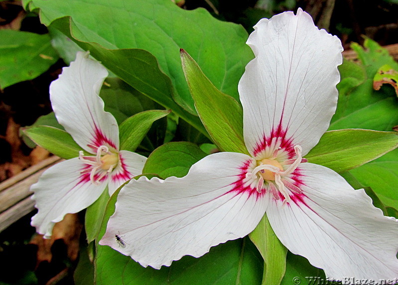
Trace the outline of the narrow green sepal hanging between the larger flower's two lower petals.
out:
<instances>
[{"instance_id":1,"label":"narrow green sepal hanging between the larger flower's two lower petals","mask_svg":"<svg viewBox=\"0 0 398 285\"><path fill-rule=\"evenodd\" d=\"M249 237L264 259L262 285L279 285L286 270L287 249L276 237L266 214Z\"/></svg>"}]
</instances>

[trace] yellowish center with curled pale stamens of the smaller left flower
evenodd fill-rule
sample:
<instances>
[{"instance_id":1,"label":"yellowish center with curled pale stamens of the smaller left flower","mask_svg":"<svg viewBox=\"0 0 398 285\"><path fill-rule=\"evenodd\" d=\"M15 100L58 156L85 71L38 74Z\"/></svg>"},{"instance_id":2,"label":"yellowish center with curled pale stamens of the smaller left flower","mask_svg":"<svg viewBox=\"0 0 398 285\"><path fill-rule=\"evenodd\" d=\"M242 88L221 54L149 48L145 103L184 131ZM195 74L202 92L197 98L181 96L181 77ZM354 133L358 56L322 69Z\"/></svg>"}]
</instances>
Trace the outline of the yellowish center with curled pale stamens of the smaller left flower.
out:
<instances>
[{"instance_id":1,"label":"yellowish center with curled pale stamens of the smaller left flower","mask_svg":"<svg viewBox=\"0 0 398 285\"><path fill-rule=\"evenodd\" d=\"M83 151L80 151L79 159L89 165L80 174L90 173L91 183L99 185L100 181L118 165L119 154L111 152L107 146L102 145L97 148L96 156L85 156Z\"/></svg>"}]
</instances>

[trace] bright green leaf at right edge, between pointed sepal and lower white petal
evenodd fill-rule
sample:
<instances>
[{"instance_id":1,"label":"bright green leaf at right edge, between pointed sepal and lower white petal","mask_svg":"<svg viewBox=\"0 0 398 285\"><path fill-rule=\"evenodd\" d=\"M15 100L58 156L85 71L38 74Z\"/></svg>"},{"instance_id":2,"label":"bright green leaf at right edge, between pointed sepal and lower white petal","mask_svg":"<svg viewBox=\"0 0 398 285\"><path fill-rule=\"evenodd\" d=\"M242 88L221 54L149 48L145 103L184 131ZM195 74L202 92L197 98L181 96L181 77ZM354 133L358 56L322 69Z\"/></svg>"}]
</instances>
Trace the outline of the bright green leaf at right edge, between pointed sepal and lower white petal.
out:
<instances>
[{"instance_id":1,"label":"bright green leaf at right edge, between pointed sepal and lower white petal","mask_svg":"<svg viewBox=\"0 0 398 285\"><path fill-rule=\"evenodd\" d=\"M365 187L372 188L386 206L398 208L398 149L350 173Z\"/></svg>"}]
</instances>

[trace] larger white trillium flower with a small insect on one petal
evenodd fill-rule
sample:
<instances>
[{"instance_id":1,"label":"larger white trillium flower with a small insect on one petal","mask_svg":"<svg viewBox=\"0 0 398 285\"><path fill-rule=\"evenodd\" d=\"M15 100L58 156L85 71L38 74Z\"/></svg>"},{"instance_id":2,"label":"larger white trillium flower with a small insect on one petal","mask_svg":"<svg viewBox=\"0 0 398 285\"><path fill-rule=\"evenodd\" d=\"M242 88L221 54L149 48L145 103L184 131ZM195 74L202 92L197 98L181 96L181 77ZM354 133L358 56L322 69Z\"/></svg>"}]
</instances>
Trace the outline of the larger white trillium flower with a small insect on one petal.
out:
<instances>
[{"instance_id":1,"label":"larger white trillium flower with a small insect on one petal","mask_svg":"<svg viewBox=\"0 0 398 285\"><path fill-rule=\"evenodd\" d=\"M266 213L283 245L329 279L396 278L397 220L303 158L336 109L340 40L298 9L260 20L247 43L256 57L238 88L250 156L211 154L183 178L131 181L100 244L159 269L246 236Z\"/></svg>"}]
</instances>

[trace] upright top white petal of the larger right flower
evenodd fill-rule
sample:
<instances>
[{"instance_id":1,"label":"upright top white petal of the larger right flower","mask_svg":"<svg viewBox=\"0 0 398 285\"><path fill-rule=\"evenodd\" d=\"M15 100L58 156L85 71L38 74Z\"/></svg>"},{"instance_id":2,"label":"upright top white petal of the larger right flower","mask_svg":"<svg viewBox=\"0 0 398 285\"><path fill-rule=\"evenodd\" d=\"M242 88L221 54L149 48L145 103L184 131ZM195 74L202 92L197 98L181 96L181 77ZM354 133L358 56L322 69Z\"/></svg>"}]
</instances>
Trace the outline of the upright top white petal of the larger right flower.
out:
<instances>
[{"instance_id":1,"label":"upright top white petal of the larger right flower","mask_svg":"<svg viewBox=\"0 0 398 285\"><path fill-rule=\"evenodd\" d=\"M298 9L262 19L247 43L256 58L239 82L245 143L256 156L271 137L303 155L329 126L337 104L340 40ZM293 152L294 153L294 152Z\"/></svg>"}]
</instances>

